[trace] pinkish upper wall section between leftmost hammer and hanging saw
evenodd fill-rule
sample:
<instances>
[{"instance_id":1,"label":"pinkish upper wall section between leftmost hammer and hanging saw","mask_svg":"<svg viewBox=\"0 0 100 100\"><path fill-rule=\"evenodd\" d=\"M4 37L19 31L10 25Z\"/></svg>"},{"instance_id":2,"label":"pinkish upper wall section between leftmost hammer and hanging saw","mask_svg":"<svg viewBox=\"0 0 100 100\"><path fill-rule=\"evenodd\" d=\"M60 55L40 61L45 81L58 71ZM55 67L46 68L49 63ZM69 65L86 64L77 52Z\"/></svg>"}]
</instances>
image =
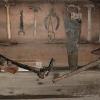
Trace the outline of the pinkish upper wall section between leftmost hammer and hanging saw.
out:
<instances>
[{"instance_id":1,"label":"pinkish upper wall section between leftmost hammer and hanging saw","mask_svg":"<svg viewBox=\"0 0 100 100\"><path fill-rule=\"evenodd\" d=\"M13 39L48 39L48 32L44 27L44 19L48 15L48 11L52 8L50 4L36 4L41 8L36 13L36 20L37 20L37 33L34 36L33 35L33 16L34 12L32 9L30 9L30 6L33 6L32 4L19 4L16 6L12 6L10 9L10 15L11 15L11 33ZM19 17L20 17L20 11L23 9L23 15L24 15L24 29L25 29L25 36L18 36L19 31ZM64 33L64 25L63 25L63 5L58 4L54 6L54 9L57 13L57 15L60 18L60 26L59 29L55 32L56 39L64 39L65 33ZM53 23L55 24L55 20L53 20Z\"/></svg>"}]
</instances>

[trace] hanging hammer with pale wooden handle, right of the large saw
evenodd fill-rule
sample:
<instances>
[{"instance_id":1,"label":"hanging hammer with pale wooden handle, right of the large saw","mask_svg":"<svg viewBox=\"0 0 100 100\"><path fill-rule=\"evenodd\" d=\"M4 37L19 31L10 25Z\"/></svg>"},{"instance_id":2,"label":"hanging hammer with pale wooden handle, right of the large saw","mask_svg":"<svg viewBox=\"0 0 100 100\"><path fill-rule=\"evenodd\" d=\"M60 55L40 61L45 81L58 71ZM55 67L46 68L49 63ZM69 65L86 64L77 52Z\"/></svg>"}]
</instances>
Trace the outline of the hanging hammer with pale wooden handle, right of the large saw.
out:
<instances>
[{"instance_id":1,"label":"hanging hammer with pale wooden handle, right of the large saw","mask_svg":"<svg viewBox=\"0 0 100 100\"><path fill-rule=\"evenodd\" d=\"M91 41L91 34L92 34L92 8L94 5L89 4L86 5L85 7L88 8L88 34L87 34L87 40Z\"/></svg>"}]
</instances>

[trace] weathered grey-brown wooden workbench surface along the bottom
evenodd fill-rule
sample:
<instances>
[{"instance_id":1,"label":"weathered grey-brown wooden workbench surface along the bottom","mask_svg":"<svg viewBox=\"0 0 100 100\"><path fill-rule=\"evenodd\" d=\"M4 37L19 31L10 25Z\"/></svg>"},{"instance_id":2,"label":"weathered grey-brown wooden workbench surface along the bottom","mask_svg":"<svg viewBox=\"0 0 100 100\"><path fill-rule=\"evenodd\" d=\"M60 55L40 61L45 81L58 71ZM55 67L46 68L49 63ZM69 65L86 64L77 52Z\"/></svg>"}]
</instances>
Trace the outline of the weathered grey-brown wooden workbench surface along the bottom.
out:
<instances>
[{"instance_id":1,"label":"weathered grey-brown wooden workbench surface along the bottom","mask_svg":"<svg viewBox=\"0 0 100 100\"><path fill-rule=\"evenodd\" d=\"M79 98L100 95L100 72L85 71L55 84L52 72L39 79L30 72L0 73L0 98ZM63 74L64 72L59 72Z\"/></svg>"}]
</instances>

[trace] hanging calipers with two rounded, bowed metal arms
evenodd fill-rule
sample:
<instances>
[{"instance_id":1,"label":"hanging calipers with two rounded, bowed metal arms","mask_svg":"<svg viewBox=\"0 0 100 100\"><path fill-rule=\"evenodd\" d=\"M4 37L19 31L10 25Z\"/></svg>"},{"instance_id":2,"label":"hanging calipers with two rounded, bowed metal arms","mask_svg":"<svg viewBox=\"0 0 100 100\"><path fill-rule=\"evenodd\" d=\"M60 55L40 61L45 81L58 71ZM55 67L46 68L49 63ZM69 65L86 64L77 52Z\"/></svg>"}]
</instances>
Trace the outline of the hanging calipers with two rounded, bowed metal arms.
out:
<instances>
[{"instance_id":1,"label":"hanging calipers with two rounded, bowed metal arms","mask_svg":"<svg viewBox=\"0 0 100 100\"><path fill-rule=\"evenodd\" d=\"M56 23L53 21L53 19L55 19ZM45 29L48 31L48 38L50 41L55 39L55 31L58 30L59 24L60 24L60 19L56 14L56 12L54 11L54 8L51 8L49 14L44 20L44 26Z\"/></svg>"}]
</instances>

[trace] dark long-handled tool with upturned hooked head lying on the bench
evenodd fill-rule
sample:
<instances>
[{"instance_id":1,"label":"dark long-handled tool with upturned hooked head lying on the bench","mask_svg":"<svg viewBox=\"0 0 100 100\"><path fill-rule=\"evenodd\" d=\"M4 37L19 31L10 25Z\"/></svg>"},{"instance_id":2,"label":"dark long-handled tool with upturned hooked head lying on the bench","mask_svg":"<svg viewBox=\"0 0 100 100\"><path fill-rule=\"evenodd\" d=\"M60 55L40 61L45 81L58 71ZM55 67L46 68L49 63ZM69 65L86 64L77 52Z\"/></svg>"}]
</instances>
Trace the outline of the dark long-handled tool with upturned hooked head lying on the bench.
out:
<instances>
[{"instance_id":1,"label":"dark long-handled tool with upturned hooked head lying on the bench","mask_svg":"<svg viewBox=\"0 0 100 100\"><path fill-rule=\"evenodd\" d=\"M0 54L0 65L5 66L5 63L7 65L6 70L10 73L16 72L16 69L11 67L13 65L16 65L17 67L20 67L20 68L29 70L31 72L34 72L34 73L37 74L37 76L39 78L44 79L46 76L48 76L49 72L51 71L51 69L53 67L54 59L51 58L48 67L36 68L36 67L31 67L29 65L25 65L25 64L22 64L22 63L18 63L16 61L11 60L11 59L5 57L4 55Z\"/></svg>"}]
</instances>

